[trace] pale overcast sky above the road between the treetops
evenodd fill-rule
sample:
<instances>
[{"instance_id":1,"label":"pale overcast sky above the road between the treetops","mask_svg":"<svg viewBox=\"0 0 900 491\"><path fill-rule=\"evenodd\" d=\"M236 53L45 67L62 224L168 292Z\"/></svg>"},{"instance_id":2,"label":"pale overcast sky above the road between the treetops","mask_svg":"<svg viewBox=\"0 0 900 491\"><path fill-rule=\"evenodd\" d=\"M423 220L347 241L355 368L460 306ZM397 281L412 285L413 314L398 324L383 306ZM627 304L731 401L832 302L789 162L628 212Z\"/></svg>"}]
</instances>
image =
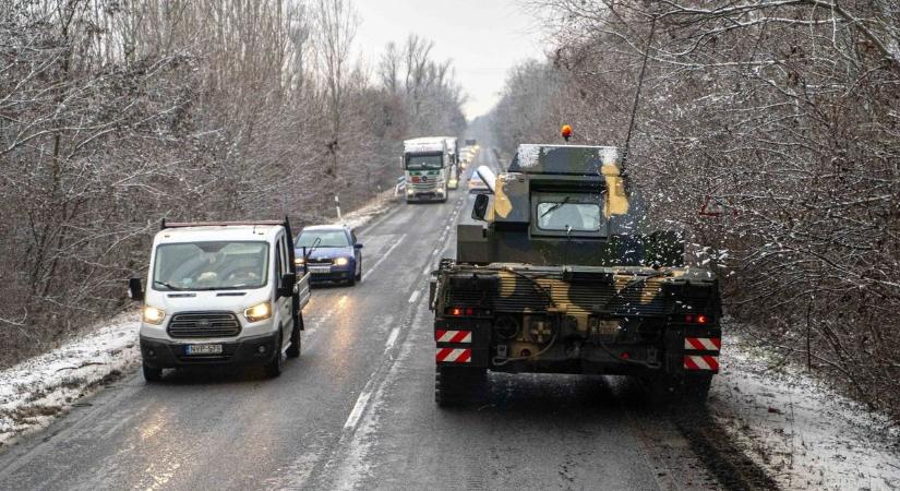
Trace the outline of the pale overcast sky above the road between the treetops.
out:
<instances>
[{"instance_id":1,"label":"pale overcast sky above the road between the treetops","mask_svg":"<svg viewBox=\"0 0 900 491\"><path fill-rule=\"evenodd\" d=\"M516 0L356 0L361 24L357 46L374 69L388 41L409 33L434 41L434 58L453 59L456 79L469 96L472 119L491 110L506 71L542 58L541 33Z\"/></svg>"}]
</instances>

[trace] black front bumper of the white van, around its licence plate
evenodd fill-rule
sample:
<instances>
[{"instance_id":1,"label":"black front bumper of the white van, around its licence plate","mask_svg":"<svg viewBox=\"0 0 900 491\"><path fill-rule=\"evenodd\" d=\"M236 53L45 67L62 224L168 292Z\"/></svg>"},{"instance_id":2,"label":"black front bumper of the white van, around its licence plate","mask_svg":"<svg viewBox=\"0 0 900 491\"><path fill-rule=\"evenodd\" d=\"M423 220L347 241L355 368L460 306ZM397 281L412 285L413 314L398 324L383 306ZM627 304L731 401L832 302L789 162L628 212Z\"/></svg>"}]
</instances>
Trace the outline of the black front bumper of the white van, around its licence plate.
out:
<instances>
[{"instance_id":1,"label":"black front bumper of the white van, around its licence plate","mask_svg":"<svg viewBox=\"0 0 900 491\"><path fill-rule=\"evenodd\" d=\"M189 345L221 345L220 355L187 355ZM262 336L243 337L233 342L209 343L203 339L193 342L170 342L141 336L141 357L152 368L167 369L177 367L196 367L206 364L265 364L278 351L278 333Z\"/></svg>"}]
</instances>

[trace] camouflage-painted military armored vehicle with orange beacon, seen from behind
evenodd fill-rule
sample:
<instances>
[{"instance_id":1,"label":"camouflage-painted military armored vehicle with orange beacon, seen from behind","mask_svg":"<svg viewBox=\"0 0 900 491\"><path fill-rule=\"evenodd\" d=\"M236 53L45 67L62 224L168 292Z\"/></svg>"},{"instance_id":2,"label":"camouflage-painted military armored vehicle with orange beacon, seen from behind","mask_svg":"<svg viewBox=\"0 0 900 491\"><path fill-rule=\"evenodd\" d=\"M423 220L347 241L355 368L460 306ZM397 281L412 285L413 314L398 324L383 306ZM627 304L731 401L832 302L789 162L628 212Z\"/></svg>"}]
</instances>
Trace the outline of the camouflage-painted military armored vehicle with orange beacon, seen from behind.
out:
<instances>
[{"instance_id":1,"label":"camouflage-painted military armored vehicle with orange beacon, seen from behind","mask_svg":"<svg viewBox=\"0 0 900 491\"><path fill-rule=\"evenodd\" d=\"M718 372L712 272L652 230L615 147L520 145L457 227L431 282L439 405L477 398L488 370L622 374L704 400Z\"/></svg>"}]
</instances>

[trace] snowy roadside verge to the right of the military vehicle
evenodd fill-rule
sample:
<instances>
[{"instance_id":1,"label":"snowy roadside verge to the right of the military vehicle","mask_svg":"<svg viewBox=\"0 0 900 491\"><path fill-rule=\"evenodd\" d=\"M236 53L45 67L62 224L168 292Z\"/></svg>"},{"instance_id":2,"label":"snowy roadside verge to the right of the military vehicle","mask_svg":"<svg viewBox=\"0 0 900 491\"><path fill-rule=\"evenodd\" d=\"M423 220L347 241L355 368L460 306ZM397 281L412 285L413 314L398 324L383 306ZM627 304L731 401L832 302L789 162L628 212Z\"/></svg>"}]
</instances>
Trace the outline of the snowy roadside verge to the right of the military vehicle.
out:
<instances>
[{"instance_id":1,"label":"snowy roadside verge to the right of the military vehicle","mask_svg":"<svg viewBox=\"0 0 900 491\"><path fill-rule=\"evenodd\" d=\"M737 333L722 337L710 412L781 487L900 489L898 428Z\"/></svg>"}]
</instances>

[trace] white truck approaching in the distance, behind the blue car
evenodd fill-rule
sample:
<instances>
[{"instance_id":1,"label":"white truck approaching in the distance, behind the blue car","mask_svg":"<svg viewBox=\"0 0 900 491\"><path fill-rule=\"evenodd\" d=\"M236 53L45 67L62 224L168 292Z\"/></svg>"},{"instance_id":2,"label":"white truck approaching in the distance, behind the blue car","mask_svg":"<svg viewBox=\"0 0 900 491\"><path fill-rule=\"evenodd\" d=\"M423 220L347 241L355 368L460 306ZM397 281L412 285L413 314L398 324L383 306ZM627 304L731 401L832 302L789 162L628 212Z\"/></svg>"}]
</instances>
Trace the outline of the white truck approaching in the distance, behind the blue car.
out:
<instances>
[{"instance_id":1,"label":"white truck approaching in the distance, behind the blue car","mask_svg":"<svg viewBox=\"0 0 900 491\"><path fill-rule=\"evenodd\" d=\"M400 165L406 177L406 202L447 201L449 156L444 136L404 141Z\"/></svg>"}]
</instances>

